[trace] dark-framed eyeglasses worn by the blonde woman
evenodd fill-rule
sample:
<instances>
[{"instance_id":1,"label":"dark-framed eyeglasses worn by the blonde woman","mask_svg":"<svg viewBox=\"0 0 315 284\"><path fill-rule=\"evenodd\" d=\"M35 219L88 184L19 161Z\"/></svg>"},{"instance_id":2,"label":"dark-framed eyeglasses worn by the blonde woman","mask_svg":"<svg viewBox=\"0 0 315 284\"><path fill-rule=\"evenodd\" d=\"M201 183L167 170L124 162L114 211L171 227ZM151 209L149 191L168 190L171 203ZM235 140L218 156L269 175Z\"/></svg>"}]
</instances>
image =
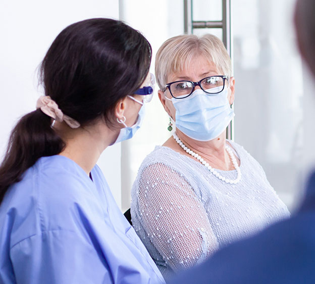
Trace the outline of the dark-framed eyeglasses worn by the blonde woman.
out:
<instances>
[{"instance_id":1,"label":"dark-framed eyeglasses worn by the blonde woman","mask_svg":"<svg viewBox=\"0 0 315 284\"><path fill-rule=\"evenodd\" d=\"M219 92L222 92L226 79L227 76L225 75L216 75L203 78L198 82L175 81L166 84L166 87L170 90L173 98L184 99L192 94L195 86L199 86L203 91L208 94L217 94Z\"/></svg>"}]
</instances>

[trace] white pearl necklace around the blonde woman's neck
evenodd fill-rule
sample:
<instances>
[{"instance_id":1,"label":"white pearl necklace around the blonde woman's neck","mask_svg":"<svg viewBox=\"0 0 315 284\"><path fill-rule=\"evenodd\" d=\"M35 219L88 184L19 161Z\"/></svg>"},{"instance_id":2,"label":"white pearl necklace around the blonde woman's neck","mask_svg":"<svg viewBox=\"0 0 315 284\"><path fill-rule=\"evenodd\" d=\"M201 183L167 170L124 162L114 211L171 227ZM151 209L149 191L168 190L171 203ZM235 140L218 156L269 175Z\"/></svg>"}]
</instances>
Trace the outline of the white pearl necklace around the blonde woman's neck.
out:
<instances>
[{"instance_id":1,"label":"white pearl necklace around the blonde woman's neck","mask_svg":"<svg viewBox=\"0 0 315 284\"><path fill-rule=\"evenodd\" d=\"M225 145L225 149L228 152L231 161L233 163L234 168L237 171L237 178L232 180L232 179L228 179L225 178L224 176L222 176L220 173L218 173L212 166L210 166L206 161L204 161L200 155L198 155L197 153L193 152L192 150L190 150L188 147L186 147L182 141L178 138L178 136L176 135L176 133L173 134L174 139L176 140L176 142L179 144L179 146L181 146L183 148L184 151L186 151L186 153L190 154L192 157L196 158L202 165L204 165L213 175L215 175L216 177L218 177L219 179L221 179L222 181L226 182L226 183L230 183L230 184L236 184L241 180L241 169L237 164L236 158L233 155L232 149L228 146Z\"/></svg>"}]
</instances>

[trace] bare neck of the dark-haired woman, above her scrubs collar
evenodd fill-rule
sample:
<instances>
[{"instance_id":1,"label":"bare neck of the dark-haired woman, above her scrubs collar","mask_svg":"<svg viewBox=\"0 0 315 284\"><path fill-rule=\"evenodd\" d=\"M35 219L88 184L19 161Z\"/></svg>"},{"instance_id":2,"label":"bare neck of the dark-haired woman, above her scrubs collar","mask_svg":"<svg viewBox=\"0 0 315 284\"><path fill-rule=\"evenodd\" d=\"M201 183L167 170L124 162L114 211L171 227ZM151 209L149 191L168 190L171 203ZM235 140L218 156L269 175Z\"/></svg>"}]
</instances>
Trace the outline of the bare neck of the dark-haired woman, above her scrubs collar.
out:
<instances>
[{"instance_id":1,"label":"bare neck of the dark-haired woman, above her scrubs collar","mask_svg":"<svg viewBox=\"0 0 315 284\"><path fill-rule=\"evenodd\" d=\"M76 162L87 175L95 166L101 153L113 143L117 133L110 130L105 123L72 129L65 123L58 123L54 127L66 144L59 154Z\"/></svg>"}]
</instances>

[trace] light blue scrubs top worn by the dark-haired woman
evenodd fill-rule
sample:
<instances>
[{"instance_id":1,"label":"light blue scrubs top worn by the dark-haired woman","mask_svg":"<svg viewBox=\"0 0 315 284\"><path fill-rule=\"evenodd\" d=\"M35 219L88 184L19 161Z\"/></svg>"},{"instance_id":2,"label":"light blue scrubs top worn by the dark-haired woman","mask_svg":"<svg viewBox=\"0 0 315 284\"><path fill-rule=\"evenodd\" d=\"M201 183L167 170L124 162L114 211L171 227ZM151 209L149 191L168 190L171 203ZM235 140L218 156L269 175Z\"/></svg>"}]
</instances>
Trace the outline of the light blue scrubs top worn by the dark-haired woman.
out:
<instances>
[{"instance_id":1,"label":"light blue scrubs top worn by the dark-haired woman","mask_svg":"<svg viewBox=\"0 0 315 284\"><path fill-rule=\"evenodd\" d=\"M97 166L91 178L50 156L9 188L0 205L0 283L165 283Z\"/></svg>"}]
</instances>

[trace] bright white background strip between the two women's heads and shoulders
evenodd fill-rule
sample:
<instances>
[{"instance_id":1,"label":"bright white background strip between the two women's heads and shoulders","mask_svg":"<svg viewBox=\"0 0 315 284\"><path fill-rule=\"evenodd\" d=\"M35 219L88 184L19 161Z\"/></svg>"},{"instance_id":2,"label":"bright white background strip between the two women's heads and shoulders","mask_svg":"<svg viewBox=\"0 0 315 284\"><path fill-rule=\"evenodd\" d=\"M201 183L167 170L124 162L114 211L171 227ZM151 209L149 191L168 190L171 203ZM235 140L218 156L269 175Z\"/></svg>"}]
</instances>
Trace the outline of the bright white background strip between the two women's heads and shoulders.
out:
<instances>
[{"instance_id":1,"label":"bright white background strip between the two women's heads and shoulders","mask_svg":"<svg viewBox=\"0 0 315 284\"><path fill-rule=\"evenodd\" d=\"M154 74L155 54L168 38L184 32L182 0L120 0L120 19L138 29L152 46L150 72ZM130 190L142 160L170 136L168 115L155 87L154 97L146 104L144 123L136 135L122 143L122 210L130 207Z\"/></svg>"}]
</instances>

